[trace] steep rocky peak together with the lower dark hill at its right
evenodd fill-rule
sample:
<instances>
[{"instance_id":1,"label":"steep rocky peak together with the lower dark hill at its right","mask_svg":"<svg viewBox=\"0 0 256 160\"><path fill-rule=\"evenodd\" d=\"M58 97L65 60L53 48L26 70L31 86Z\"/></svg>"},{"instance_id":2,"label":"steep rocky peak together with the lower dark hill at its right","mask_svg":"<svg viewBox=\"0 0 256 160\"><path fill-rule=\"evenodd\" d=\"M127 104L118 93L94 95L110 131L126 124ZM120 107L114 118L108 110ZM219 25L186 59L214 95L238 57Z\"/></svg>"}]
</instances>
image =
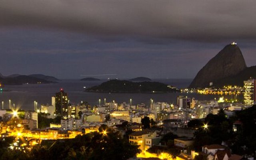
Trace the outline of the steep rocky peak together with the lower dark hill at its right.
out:
<instances>
[{"instance_id":1,"label":"steep rocky peak together with the lower dark hill at its right","mask_svg":"<svg viewBox=\"0 0 256 160\"><path fill-rule=\"evenodd\" d=\"M212 58L196 75L189 88L225 85L243 86L244 80L256 78L256 66L247 67L240 48L228 44Z\"/></svg>"}]
</instances>

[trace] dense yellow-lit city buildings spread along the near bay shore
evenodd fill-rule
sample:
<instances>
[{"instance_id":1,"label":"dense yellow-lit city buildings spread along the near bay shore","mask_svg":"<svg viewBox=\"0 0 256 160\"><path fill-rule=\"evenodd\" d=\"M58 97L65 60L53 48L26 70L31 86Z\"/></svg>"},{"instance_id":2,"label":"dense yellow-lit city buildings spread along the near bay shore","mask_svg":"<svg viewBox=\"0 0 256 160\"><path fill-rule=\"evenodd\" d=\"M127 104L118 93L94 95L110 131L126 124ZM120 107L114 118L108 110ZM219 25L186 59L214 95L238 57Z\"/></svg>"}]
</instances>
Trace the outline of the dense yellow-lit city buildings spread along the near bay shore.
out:
<instances>
[{"instance_id":1,"label":"dense yellow-lit city buildings spread along the near bay shore","mask_svg":"<svg viewBox=\"0 0 256 160\"><path fill-rule=\"evenodd\" d=\"M227 117L234 114L236 110L243 110L247 106L242 103L225 102L225 100L196 100L190 97L177 97L177 104L168 102L154 102L150 100L150 106L145 104L132 105L132 103L120 103L115 101L104 102L104 104L90 106L81 102L79 104L69 104L67 94L61 90L59 99L52 105L41 105L39 112L34 111L16 111L0 112L3 121L0 124L1 137L14 136L17 138L10 147L12 149L27 148L31 149L34 145L40 144L42 140L57 140L74 138L77 135L83 135L90 132L99 132L98 128L105 124L115 131L124 135L127 129L133 131L129 134L129 142L138 144L142 153L138 157L170 157L170 154L163 153L162 155L149 154L148 148L153 145L159 145L161 137L167 132L175 134L184 133L187 124L190 120L196 118L205 118L208 114L218 114L220 109L224 109ZM59 102L58 102L59 101ZM65 102L64 102L65 101ZM51 123L41 129L38 128L38 115L41 113L51 113L54 105L58 106L64 102L63 108L67 105L60 123ZM69 108L71 108L69 110ZM24 113L22 113L24 112ZM56 108L55 113L58 112ZM19 114L24 114L24 119L19 118ZM55 114L57 116L58 114ZM54 117L55 117L54 116ZM157 130L143 130L142 119L149 117L150 120L156 122L156 126L160 127ZM128 122L128 128L120 128L123 122ZM161 129L162 128L162 129ZM172 130L176 128L176 130ZM177 130L178 128L178 130ZM164 129L164 130L163 130ZM236 128L235 128L236 129ZM186 136L192 138L196 130L186 131ZM20 141L22 140L22 141ZM190 139L176 139L175 145L188 146L192 144ZM19 143L17 143L19 142ZM194 154L194 153L193 153Z\"/></svg>"}]
</instances>

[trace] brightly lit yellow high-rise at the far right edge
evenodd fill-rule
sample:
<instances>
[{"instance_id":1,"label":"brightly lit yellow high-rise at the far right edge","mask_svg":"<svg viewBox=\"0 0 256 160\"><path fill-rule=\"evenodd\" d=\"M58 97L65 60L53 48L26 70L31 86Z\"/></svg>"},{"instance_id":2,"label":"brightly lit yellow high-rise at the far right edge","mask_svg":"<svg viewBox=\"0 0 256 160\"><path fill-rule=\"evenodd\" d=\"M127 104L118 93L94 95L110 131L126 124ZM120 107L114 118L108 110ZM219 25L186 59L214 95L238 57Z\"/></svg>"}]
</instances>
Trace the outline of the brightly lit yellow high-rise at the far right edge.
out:
<instances>
[{"instance_id":1,"label":"brightly lit yellow high-rise at the far right edge","mask_svg":"<svg viewBox=\"0 0 256 160\"><path fill-rule=\"evenodd\" d=\"M244 81L244 105L250 106L256 101L256 80Z\"/></svg>"}]
</instances>

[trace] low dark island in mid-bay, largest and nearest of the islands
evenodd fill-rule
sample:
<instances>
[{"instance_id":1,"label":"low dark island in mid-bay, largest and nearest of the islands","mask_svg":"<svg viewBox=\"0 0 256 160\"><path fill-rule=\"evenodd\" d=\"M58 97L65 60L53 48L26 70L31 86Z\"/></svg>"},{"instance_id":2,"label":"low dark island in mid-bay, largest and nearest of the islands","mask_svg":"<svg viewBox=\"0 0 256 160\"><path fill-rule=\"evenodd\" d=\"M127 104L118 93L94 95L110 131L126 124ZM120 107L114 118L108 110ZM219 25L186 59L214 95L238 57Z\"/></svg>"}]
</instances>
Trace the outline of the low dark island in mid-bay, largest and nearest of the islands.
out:
<instances>
[{"instance_id":1,"label":"low dark island in mid-bay, largest and nearest of the islands","mask_svg":"<svg viewBox=\"0 0 256 160\"><path fill-rule=\"evenodd\" d=\"M109 80L93 86L85 92L103 93L168 93L180 92L179 89L160 82L130 82L127 80Z\"/></svg>"}]
</instances>

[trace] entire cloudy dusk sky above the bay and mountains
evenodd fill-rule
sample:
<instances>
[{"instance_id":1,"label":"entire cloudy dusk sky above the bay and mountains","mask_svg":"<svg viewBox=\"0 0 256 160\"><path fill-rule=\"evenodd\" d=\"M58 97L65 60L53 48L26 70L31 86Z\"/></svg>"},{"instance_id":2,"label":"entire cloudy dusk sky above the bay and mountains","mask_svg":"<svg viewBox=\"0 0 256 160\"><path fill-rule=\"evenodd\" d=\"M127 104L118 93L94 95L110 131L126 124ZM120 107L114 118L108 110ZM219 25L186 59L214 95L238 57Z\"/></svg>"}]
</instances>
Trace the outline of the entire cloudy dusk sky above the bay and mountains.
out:
<instances>
[{"instance_id":1,"label":"entire cloudy dusk sky above the bay and mountains","mask_svg":"<svg viewBox=\"0 0 256 160\"><path fill-rule=\"evenodd\" d=\"M236 41L256 65L256 1L0 2L0 73L194 78Z\"/></svg>"}]
</instances>

